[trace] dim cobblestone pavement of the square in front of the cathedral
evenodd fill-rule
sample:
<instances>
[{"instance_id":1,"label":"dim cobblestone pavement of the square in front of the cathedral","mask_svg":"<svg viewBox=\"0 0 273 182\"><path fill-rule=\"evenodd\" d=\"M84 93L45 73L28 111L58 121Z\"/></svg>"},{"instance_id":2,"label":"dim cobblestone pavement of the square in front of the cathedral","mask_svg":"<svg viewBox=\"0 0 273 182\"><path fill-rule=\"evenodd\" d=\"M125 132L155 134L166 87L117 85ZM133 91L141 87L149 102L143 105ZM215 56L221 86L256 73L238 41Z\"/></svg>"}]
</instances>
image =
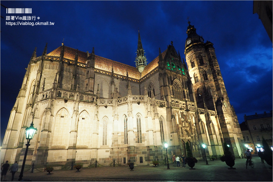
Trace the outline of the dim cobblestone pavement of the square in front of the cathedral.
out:
<instances>
[{"instance_id":1,"label":"dim cobblestone pavement of the square in front of the cathedral","mask_svg":"<svg viewBox=\"0 0 273 182\"><path fill-rule=\"evenodd\" d=\"M257 155L253 156L254 167L246 169L246 159L236 159L234 167L230 170L221 160L198 161L195 170L190 167L174 167L170 163L170 169L166 165L139 166L135 165L133 171L129 167L93 167L76 170L53 170L47 172L30 173L25 172L23 179L32 181L273 181L272 167L267 163L262 164ZM182 166L182 165L181 165ZM15 174L18 179L19 173ZM11 173L6 179L11 179Z\"/></svg>"}]
</instances>

